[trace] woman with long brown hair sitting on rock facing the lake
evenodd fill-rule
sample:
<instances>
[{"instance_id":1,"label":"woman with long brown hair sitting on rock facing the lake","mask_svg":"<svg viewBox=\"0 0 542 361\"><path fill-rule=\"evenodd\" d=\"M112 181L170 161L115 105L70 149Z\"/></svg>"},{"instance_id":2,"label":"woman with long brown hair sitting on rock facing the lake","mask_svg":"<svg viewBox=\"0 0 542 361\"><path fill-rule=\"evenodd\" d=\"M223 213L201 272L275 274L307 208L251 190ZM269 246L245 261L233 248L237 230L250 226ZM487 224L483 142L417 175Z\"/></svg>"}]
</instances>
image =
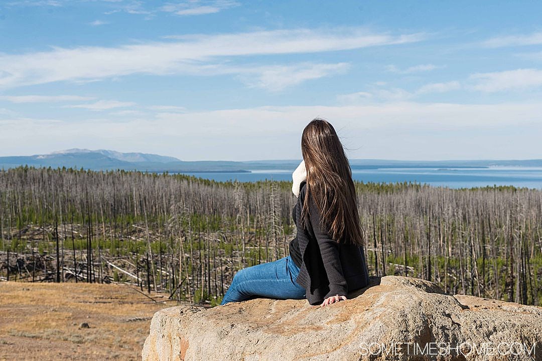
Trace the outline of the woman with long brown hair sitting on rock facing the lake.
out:
<instances>
[{"instance_id":1,"label":"woman with long brown hair sitting on rock facing the lake","mask_svg":"<svg viewBox=\"0 0 542 361\"><path fill-rule=\"evenodd\" d=\"M221 305L269 297L325 306L369 283L352 171L333 126L313 119L301 153L292 174L297 235L289 255L237 271Z\"/></svg>"}]
</instances>

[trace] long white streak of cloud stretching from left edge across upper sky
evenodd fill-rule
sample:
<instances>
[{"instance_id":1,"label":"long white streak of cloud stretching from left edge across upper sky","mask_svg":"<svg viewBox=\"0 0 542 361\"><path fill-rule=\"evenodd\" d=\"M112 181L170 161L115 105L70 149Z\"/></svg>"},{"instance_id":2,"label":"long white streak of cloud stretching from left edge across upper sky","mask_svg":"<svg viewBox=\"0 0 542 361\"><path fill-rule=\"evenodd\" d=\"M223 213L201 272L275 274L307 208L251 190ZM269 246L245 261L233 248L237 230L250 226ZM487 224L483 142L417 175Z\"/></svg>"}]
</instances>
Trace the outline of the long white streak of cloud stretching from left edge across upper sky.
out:
<instances>
[{"instance_id":1,"label":"long white streak of cloud stretching from left edge across upper sky","mask_svg":"<svg viewBox=\"0 0 542 361\"><path fill-rule=\"evenodd\" d=\"M180 41L150 42L112 48L54 47L50 51L0 55L0 87L57 81L104 79L133 73L166 75L201 72L219 57L301 54L358 49L421 41L423 34L393 36L362 29L275 30L238 34L178 37Z\"/></svg>"}]
</instances>

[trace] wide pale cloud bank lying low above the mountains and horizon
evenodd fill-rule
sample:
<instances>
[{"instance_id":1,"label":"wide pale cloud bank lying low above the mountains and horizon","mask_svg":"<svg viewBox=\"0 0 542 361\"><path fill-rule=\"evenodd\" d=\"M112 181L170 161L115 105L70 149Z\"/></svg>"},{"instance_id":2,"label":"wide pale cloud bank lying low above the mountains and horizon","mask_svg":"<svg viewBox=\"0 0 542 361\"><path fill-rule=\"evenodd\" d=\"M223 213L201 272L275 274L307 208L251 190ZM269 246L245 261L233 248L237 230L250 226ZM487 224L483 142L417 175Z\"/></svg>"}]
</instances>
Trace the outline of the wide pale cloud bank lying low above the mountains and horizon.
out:
<instances>
[{"instance_id":1,"label":"wide pale cloud bank lying low above the mountains and horizon","mask_svg":"<svg viewBox=\"0 0 542 361\"><path fill-rule=\"evenodd\" d=\"M344 144L357 149L350 154L353 158L526 157L533 155L531 140L542 131L542 103L395 102L159 113L156 117L133 117L127 121L8 118L0 120L0 143L14 155L58 150L58 144L62 148L117 150L133 149L137 144L141 148L137 151L186 160L284 159L300 156L302 129L314 117L328 119ZM518 128L530 130L513 134L502 131ZM499 129L501 138L495 133L488 135ZM464 136L466 131L469 137L477 132L487 137L486 143L480 144L476 139L469 146L458 147L468 138ZM248 145L253 147L250 153L246 152ZM487 152L482 153L481 149Z\"/></svg>"}]
</instances>

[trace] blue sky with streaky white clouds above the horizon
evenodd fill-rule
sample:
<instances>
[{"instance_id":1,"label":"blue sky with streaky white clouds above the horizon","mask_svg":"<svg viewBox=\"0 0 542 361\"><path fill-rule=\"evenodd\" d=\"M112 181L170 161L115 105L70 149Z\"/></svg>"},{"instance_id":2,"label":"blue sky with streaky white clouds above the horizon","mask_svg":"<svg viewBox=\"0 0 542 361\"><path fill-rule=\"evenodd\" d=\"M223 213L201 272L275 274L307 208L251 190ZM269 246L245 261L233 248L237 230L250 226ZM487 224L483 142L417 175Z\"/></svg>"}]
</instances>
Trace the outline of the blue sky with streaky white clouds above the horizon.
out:
<instances>
[{"instance_id":1,"label":"blue sky with streaky white clouds above the horizon","mask_svg":"<svg viewBox=\"0 0 542 361\"><path fill-rule=\"evenodd\" d=\"M542 2L0 1L0 156L542 158Z\"/></svg>"}]
</instances>

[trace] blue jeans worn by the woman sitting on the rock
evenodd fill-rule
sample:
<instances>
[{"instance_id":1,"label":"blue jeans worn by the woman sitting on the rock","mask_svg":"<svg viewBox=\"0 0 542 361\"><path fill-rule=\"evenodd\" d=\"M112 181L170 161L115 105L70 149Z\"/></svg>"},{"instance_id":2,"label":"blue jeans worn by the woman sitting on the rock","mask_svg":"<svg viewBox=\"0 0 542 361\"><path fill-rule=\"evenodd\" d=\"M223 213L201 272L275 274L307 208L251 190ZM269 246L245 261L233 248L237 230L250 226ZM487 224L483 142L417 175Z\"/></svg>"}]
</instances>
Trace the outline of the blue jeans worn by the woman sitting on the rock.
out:
<instances>
[{"instance_id":1,"label":"blue jeans worn by the woman sitting on the rock","mask_svg":"<svg viewBox=\"0 0 542 361\"><path fill-rule=\"evenodd\" d=\"M253 298L304 299L305 289L295 282L299 268L290 256L237 271L222 303Z\"/></svg>"}]
</instances>

